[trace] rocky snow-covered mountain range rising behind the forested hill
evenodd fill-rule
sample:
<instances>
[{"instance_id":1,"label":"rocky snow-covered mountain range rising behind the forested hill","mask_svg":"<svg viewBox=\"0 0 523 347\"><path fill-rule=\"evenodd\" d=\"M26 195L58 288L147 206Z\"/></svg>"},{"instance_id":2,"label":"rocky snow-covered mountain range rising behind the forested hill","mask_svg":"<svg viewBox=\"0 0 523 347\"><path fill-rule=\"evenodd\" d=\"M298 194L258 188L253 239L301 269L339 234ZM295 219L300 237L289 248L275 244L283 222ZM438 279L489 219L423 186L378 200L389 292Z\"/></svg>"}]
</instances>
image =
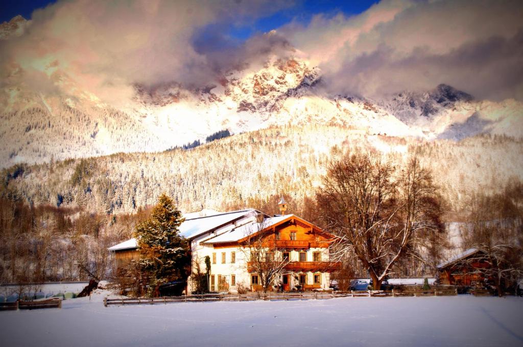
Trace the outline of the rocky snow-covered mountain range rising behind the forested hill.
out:
<instances>
[{"instance_id":1,"label":"rocky snow-covered mountain range rising behind the forested hill","mask_svg":"<svg viewBox=\"0 0 523 347\"><path fill-rule=\"evenodd\" d=\"M26 26L15 17L2 24L0 39L16 40ZM7 66L0 85L0 167L163 151L223 129L238 134L283 125L328 124L421 139L523 134L518 101L475 100L447 85L380 100L333 94L320 68L290 52L244 61L204 87L134 83L111 98L83 88L58 60L39 67L51 81L41 88L28 82L24 67Z\"/></svg>"}]
</instances>

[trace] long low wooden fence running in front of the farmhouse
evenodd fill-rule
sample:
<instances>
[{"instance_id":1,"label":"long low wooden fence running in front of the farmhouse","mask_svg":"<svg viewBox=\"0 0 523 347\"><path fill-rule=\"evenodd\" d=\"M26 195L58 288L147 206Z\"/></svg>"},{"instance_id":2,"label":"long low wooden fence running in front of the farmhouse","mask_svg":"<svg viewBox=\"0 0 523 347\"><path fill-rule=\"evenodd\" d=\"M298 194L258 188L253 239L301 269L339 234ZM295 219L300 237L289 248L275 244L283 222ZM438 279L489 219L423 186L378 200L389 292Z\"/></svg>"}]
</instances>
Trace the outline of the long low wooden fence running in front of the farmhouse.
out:
<instances>
[{"instance_id":1,"label":"long low wooden fence running in front of the farmhouse","mask_svg":"<svg viewBox=\"0 0 523 347\"><path fill-rule=\"evenodd\" d=\"M163 296L155 298L104 298L104 306L109 305L154 305L179 302L210 301L255 301L255 300L311 300L332 299L335 297L392 297L392 296L443 296L457 295L456 289L434 288L423 291L420 288L408 288L402 291L349 291L349 292L289 292L289 293L247 293L247 294L198 294L182 296Z\"/></svg>"}]
</instances>

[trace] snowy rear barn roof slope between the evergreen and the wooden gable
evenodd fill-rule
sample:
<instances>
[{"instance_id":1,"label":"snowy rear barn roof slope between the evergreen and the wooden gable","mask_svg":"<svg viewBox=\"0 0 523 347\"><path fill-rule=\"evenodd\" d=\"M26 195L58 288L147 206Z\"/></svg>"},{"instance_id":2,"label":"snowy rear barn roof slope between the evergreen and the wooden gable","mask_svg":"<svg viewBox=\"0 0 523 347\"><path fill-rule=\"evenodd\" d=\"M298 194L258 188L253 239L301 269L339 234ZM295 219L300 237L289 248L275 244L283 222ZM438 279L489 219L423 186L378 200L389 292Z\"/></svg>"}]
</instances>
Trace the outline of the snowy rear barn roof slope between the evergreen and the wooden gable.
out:
<instances>
[{"instance_id":1,"label":"snowy rear barn roof slope between the evergreen and the wooden gable","mask_svg":"<svg viewBox=\"0 0 523 347\"><path fill-rule=\"evenodd\" d=\"M231 223L232 221L243 216L254 216L255 213L255 209L246 209L214 214L212 216L186 219L185 222L181 223L180 225L180 235L186 238L193 238L206 233L209 230L218 228L221 225Z\"/></svg>"}]
</instances>

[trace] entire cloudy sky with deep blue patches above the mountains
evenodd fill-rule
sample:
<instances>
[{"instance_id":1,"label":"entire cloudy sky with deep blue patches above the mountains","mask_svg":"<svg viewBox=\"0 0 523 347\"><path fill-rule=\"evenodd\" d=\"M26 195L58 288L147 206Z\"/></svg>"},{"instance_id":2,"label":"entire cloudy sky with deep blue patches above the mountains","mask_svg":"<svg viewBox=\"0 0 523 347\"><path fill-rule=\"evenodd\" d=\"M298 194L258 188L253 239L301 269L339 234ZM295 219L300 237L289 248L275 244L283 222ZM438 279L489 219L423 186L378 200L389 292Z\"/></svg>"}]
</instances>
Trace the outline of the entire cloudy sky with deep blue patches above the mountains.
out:
<instances>
[{"instance_id":1,"label":"entire cloudy sky with deep blue patches above the mountains","mask_svg":"<svg viewBox=\"0 0 523 347\"><path fill-rule=\"evenodd\" d=\"M124 100L134 85L215 84L237 66L297 57L331 94L382 98L446 83L523 100L519 0L10 1L27 22L0 40L2 90ZM269 31L275 30L269 33ZM0 91L0 103L8 100Z\"/></svg>"}]
</instances>

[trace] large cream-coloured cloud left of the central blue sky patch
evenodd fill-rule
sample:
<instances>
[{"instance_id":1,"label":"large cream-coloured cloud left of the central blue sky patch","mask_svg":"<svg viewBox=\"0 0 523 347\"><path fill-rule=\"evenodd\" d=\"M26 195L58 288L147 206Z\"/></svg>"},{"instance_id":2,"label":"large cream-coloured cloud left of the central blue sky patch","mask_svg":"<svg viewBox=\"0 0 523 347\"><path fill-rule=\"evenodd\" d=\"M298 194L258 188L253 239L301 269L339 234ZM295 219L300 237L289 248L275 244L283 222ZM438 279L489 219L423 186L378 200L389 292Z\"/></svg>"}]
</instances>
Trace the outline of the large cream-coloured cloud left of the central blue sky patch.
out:
<instances>
[{"instance_id":1,"label":"large cream-coloured cloud left of the central blue sky patch","mask_svg":"<svg viewBox=\"0 0 523 347\"><path fill-rule=\"evenodd\" d=\"M195 87L208 83L217 64L227 61L197 50L195 36L203 28L233 21L241 24L289 4L59 1L35 11L22 35L0 42L4 53L0 68L3 76L12 75L15 65L26 75L47 74L51 84L53 79L67 77L82 89L106 96L133 83L154 86L176 81ZM57 62L58 67L50 67L50 62ZM12 77L3 82L21 80ZM33 87L42 88L42 83Z\"/></svg>"}]
</instances>

